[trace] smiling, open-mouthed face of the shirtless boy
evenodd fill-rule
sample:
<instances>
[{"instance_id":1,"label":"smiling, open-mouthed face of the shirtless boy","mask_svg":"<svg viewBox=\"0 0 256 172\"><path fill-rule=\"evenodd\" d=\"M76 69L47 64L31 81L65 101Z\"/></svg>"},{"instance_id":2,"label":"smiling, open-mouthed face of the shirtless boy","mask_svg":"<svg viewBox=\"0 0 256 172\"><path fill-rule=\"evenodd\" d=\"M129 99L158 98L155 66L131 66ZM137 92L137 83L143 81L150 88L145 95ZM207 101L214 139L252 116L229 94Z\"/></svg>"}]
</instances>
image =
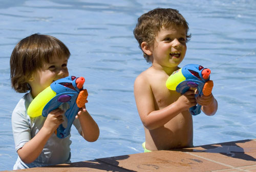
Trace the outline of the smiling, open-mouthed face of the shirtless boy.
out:
<instances>
[{"instance_id":1,"label":"smiling, open-mouthed face of the shirtless boy","mask_svg":"<svg viewBox=\"0 0 256 172\"><path fill-rule=\"evenodd\" d=\"M163 67L177 67L185 57L186 30L183 27L171 26L162 28L155 37L152 49L153 64Z\"/></svg>"}]
</instances>

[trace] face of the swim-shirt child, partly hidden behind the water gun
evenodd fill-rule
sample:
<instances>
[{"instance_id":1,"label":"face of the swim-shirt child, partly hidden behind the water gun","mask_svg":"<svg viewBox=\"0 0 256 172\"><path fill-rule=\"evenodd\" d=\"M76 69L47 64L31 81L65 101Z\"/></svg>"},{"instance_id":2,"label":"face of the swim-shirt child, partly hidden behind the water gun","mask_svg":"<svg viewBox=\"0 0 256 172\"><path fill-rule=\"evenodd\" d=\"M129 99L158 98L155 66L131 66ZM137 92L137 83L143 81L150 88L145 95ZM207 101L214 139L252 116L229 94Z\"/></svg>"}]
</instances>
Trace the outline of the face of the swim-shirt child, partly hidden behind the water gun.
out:
<instances>
[{"instance_id":1,"label":"face of the swim-shirt child, partly hidden behind the water gun","mask_svg":"<svg viewBox=\"0 0 256 172\"><path fill-rule=\"evenodd\" d=\"M35 97L45 88L49 87L54 81L69 76L68 58L51 58L49 63L37 69L28 82L32 88L32 96Z\"/></svg>"}]
</instances>

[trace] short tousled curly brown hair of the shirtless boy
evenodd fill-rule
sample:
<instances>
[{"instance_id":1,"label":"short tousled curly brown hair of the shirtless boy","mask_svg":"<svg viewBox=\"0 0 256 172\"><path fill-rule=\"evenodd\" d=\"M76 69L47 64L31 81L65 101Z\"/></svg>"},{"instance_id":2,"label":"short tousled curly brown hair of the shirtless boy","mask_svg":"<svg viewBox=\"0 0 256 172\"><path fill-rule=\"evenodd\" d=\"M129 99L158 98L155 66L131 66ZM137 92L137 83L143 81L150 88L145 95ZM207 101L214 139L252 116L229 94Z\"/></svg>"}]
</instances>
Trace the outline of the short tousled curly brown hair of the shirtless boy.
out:
<instances>
[{"instance_id":1,"label":"short tousled curly brown hair of the shirtless boy","mask_svg":"<svg viewBox=\"0 0 256 172\"><path fill-rule=\"evenodd\" d=\"M161 28L168 28L173 24L184 27L186 30L186 41L188 41L188 38L191 37L191 34L187 34L189 29L188 23L178 10L171 8L156 8L142 14L138 18L138 23L133 31L134 37L137 39L140 49L141 43L144 41L149 45L153 45L157 32L159 32ZM144 54L144 58L147 62L150 61L148 55Z\"/></svg>"}]
</instances>

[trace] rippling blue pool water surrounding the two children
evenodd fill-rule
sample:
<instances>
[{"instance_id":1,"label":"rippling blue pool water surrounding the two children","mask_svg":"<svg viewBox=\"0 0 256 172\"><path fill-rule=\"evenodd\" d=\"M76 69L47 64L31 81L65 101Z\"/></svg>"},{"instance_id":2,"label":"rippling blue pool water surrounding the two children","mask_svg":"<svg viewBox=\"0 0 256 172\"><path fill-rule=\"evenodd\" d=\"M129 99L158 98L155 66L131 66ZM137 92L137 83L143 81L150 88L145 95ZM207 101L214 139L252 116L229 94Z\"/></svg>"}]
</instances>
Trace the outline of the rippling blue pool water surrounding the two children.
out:
<instances>
[{"instance_id":1,"label":"rippling blue pool water surrounding the two children","mask_svg":"<svg viewBox=\"0 0 256 172\"><path fill-rule=\"evenodd\" d=\"M9 58L16 43L33 33L63 41L72 54L70 75L86 78L87 109L99 125L100 136L89 143L73 128L71 160L143 151L144 131L133 83L150 64L142 57L133 29L142 13L156 7L178 9L189 23L192 38L181 66L197 63L212 70L212 92L219 109L215 116L193 117L194 145L256 138L254 0L2 0L0 170L11 170L17 158L11 113L23 96L10 87Z\"/></svg>"}]
</instances>

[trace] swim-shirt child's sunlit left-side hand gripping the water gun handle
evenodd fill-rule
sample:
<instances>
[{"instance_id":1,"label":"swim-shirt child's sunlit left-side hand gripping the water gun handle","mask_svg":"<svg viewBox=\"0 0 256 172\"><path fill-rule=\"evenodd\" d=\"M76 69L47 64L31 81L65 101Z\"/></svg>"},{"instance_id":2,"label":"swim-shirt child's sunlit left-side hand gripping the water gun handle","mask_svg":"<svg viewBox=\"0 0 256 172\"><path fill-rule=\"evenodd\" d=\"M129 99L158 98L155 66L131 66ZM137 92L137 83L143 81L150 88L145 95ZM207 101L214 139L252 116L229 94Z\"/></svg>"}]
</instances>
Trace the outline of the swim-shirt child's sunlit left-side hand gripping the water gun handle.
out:
<instances>
[{"instance_id":1,"label":"swim-shirt child's sunlit left-side hand gripping the water gun handle","mask_svg":"<svg viewBox=\"0 0 256 172\"><path fill-rule=\"evenodd\" d=\"M52 110L45 121L44 127L49 130L51 133L53 133L59 125L64 121L62 118L62 114L64 113L63 110L57 108Z\"/></svg>"}]
</instances>

